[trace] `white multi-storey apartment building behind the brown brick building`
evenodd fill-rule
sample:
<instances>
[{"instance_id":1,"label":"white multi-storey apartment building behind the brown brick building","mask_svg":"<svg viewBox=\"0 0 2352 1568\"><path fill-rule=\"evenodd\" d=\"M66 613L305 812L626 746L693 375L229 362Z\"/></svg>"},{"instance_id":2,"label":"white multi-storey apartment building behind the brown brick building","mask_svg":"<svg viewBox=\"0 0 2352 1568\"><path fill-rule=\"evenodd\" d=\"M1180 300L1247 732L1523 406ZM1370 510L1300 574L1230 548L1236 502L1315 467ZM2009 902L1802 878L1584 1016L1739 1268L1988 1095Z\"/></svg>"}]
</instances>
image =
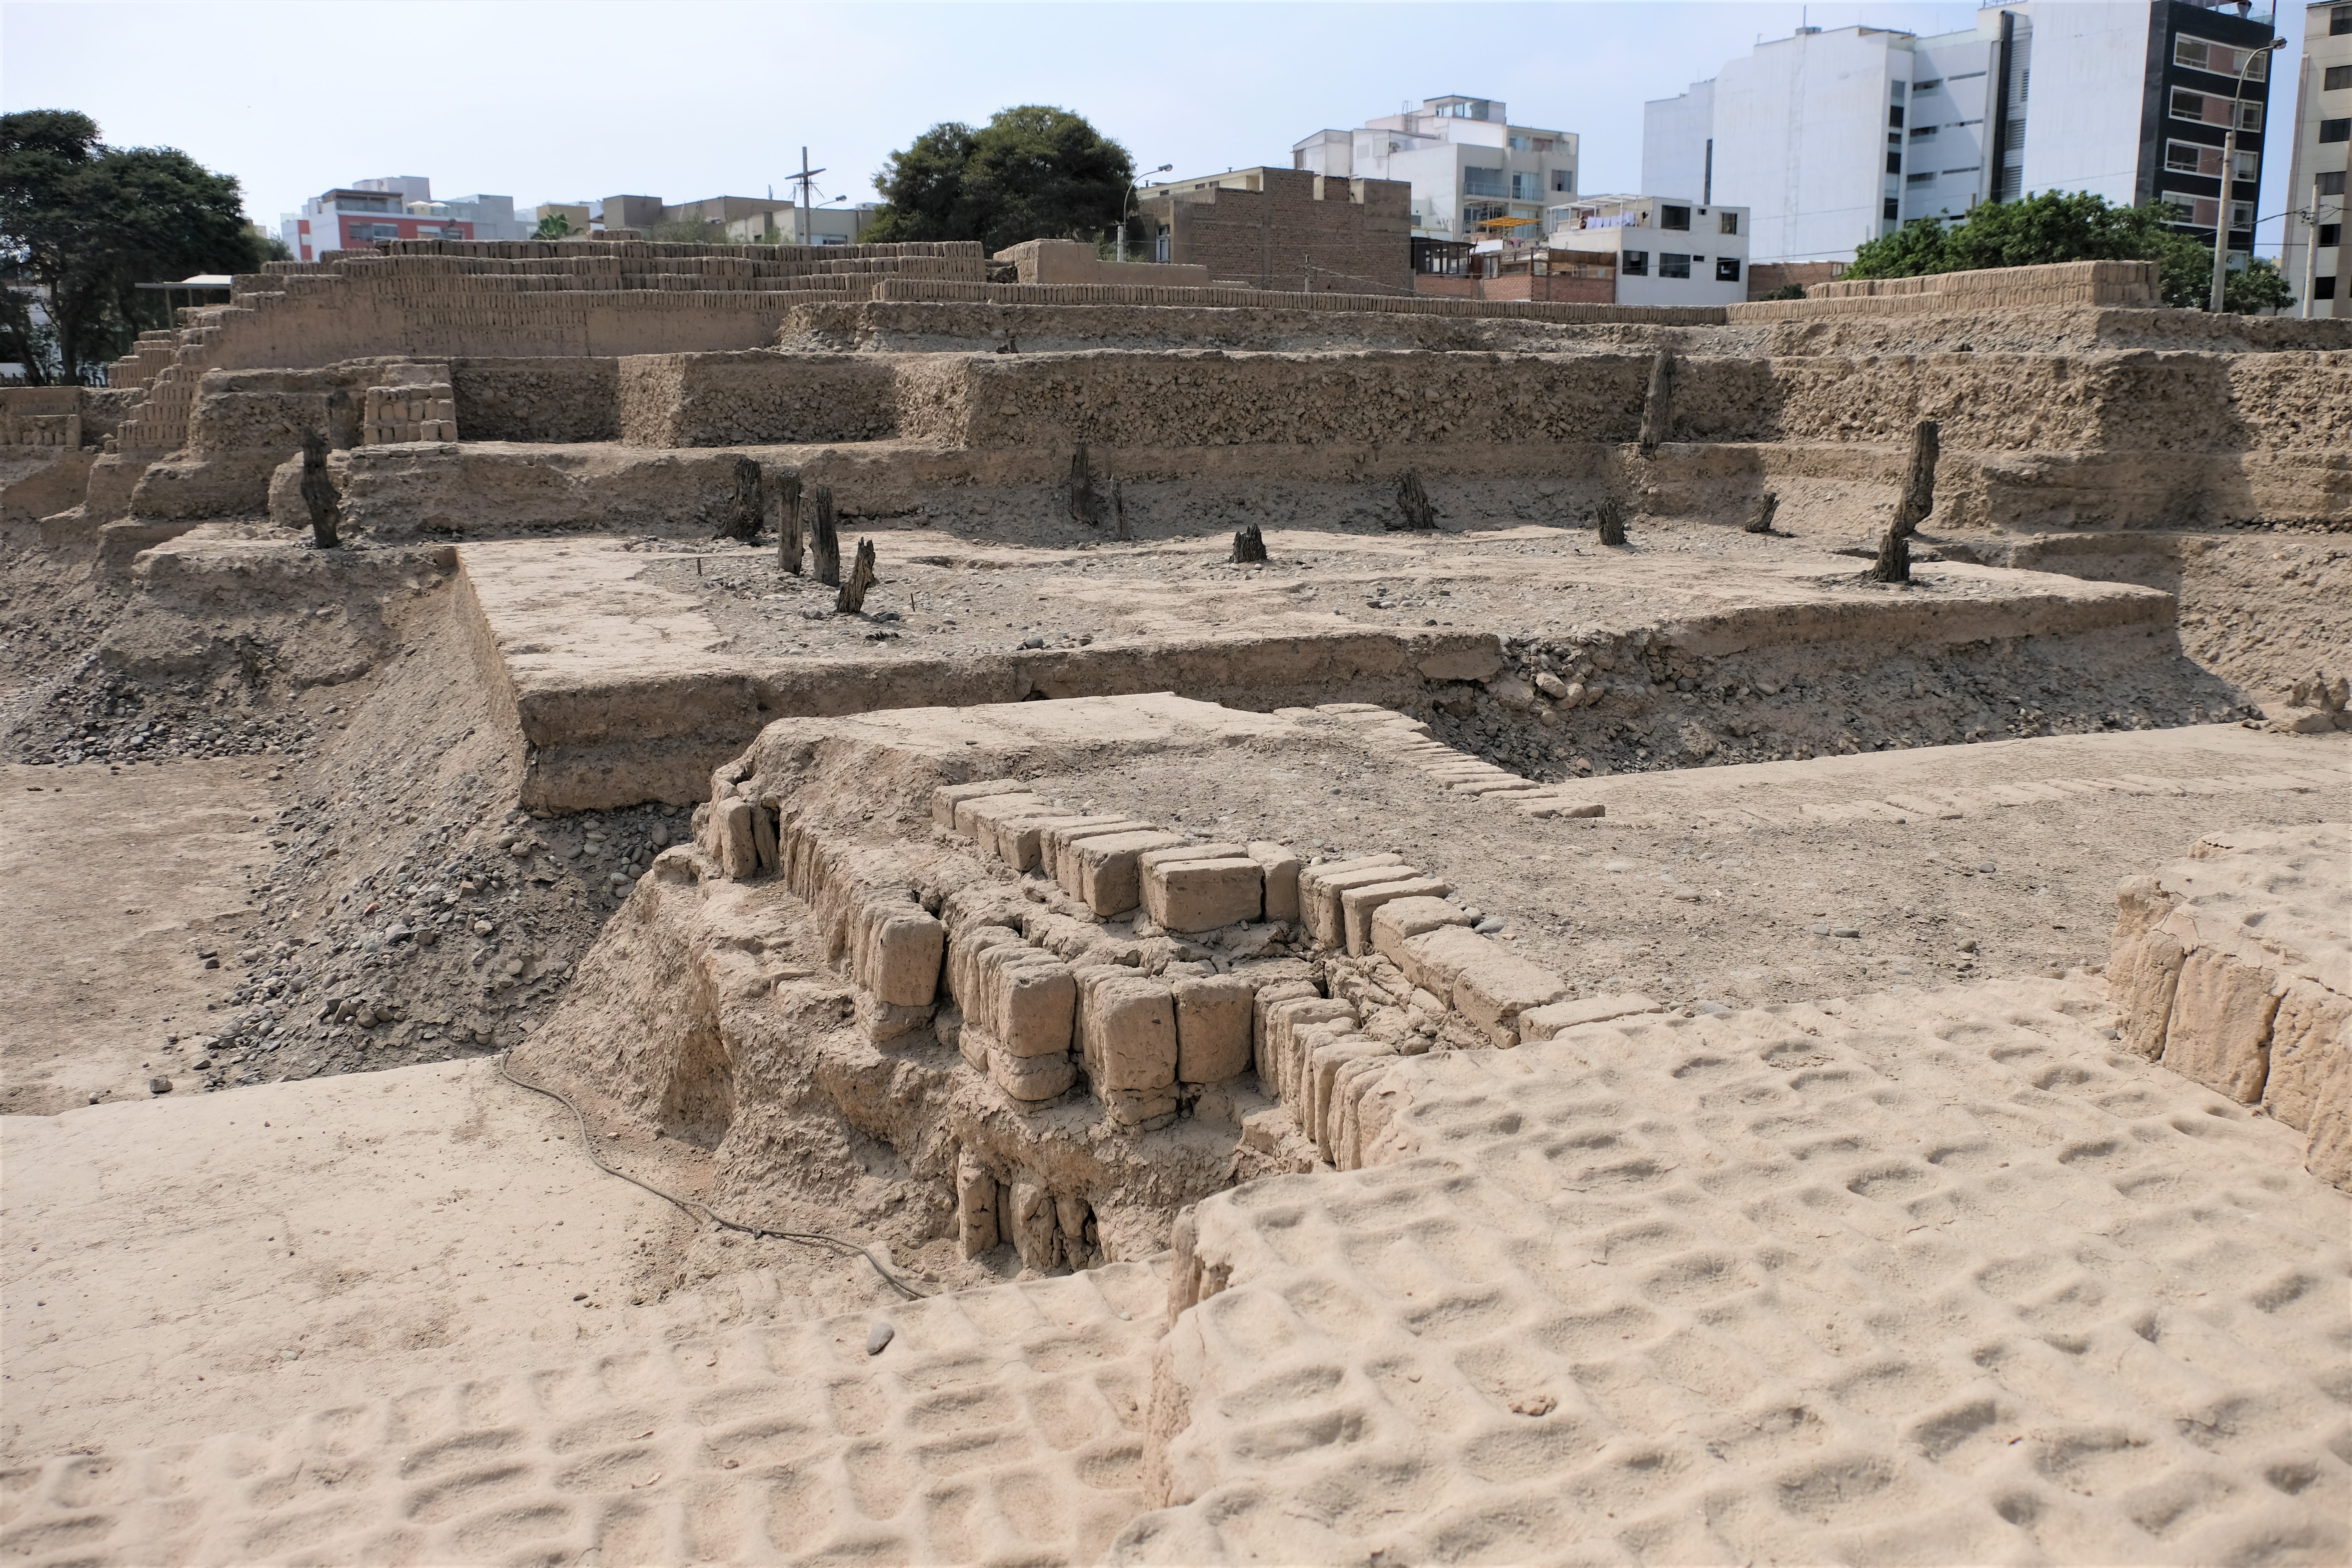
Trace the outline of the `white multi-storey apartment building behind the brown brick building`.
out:
<instances>
[{"instance_id":1,"label":"white multi-storey apartment building behind the brown brick building","mask_svg":"<svg viewBox=\"0 0 2352 1568\"><path fill-rule=\"evenodd\" d=\"M1352 132L1305 136L1291 167L1404 181L1416 240L1482 240L1505 223L1534 230L1545 207L1576 195L1576 134L1510 125L1494 99L1423 99Z\"/></svg>"}]
</instances>

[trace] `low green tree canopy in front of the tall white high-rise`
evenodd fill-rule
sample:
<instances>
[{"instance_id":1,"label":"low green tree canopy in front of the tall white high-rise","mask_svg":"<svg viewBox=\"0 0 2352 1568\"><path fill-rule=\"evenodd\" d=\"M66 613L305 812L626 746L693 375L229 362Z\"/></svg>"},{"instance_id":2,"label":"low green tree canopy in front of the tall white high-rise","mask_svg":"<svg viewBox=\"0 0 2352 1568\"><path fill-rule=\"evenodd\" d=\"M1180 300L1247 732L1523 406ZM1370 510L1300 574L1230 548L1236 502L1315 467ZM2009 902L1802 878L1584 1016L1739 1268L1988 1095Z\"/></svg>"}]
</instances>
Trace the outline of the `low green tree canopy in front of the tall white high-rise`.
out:
<instances>
[{"instance_id":1,"label":"low green tree canopy in front of the tall white high-rise","mask_svg":"<svg viewBox=\"0 0 2352 1568\"><path fill-rule=\"evenodd\" d=\"M2197 310L2213 296L2213 249L2171 228L2161 202L2112 207L2103 195L2044 190L2018 202L1983 202L1950 223L1919 219L1853 252L1846 277L1922 277L2051 261L2154 261L2166 306ZM2230 310L2291 303L2286 280L2253 259L2223 284Z\"/></svg>"}]
</instances>

